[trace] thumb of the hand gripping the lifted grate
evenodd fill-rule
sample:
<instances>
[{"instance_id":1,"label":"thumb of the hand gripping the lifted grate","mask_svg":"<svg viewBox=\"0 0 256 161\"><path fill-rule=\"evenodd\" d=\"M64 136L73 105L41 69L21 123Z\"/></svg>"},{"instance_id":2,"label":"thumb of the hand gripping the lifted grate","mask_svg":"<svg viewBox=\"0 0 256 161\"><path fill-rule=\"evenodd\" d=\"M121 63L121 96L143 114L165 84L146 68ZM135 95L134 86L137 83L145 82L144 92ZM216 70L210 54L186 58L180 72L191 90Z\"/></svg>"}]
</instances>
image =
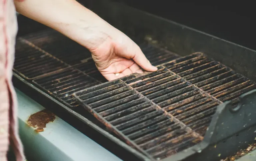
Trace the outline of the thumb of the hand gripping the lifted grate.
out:
<instances>
[{"instance_id":1,"label":"thumb of the hand gripping the lifted grate","mask_svg":"<svg viewBox=\"0 0 256 161\"><path fill-rule=\"evenodd\" d=\"M146 58L146 56L142 53L141 49L138 47L136 51L134 51L135 56L133 57L133 60L141 66L144 70L149 72L157 71L157 67L154 67L151 65L149 60Z\"/></svg>"}]
</instances>

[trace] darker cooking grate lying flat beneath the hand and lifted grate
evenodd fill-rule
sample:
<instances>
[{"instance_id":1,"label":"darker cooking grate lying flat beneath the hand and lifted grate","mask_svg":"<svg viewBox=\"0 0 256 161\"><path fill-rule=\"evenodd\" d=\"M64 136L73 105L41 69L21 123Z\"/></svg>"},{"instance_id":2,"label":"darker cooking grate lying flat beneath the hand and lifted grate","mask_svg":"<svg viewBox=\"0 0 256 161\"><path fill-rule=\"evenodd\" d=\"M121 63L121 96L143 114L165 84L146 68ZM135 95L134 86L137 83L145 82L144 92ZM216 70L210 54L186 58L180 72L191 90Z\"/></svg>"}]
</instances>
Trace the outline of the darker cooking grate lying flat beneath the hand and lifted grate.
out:
<instances>
[{"instance_id":1,"label":"darker cooking grate lying flat beneath the hand and lifted grate","mask_svg":"<svg viewBox=\"0 0 256 161\"><path fill-rule=\"evenodd\" d=\"M178 57L145 42L140 47L153 65ZM52 29L17 39L13 70L69 107L79 105L72 93L107 81L86 48Z\"/></svg>"}]
</instances>

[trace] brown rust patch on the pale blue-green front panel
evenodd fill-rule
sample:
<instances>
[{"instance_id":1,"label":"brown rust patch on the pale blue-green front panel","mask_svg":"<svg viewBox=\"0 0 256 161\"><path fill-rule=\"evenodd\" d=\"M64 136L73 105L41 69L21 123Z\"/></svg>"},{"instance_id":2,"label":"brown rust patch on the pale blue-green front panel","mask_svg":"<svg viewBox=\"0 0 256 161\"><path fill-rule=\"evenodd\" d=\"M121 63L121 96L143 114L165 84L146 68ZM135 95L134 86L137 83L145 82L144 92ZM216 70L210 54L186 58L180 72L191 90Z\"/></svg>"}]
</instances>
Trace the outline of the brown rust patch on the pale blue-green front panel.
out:
<instances>
[{"instance_id":1,"label":"brown rust patch on the pale blue-green front panel","mask_svg":"<svg viewBox=\"0 0 256 161\"><path fill-rule=\"evenodd\" d=\"M55 115L47 109L39 111L29 116L28 126L34 127L35 132L42 132L46 128L46 124L55 120Z\"/></svg>"}]
</instances>

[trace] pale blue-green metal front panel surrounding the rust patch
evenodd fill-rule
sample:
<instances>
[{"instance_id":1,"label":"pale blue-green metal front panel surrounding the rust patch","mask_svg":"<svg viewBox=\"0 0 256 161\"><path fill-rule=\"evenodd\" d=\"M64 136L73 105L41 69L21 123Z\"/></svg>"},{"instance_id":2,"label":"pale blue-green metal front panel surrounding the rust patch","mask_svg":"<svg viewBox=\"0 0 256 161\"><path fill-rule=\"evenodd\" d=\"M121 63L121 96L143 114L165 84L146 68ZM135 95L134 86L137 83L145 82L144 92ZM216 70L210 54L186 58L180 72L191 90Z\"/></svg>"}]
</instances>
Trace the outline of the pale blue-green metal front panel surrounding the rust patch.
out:
<instances>
[{"instance_id":1,"label":"pale blue-green metal front panel surrounding the rust patch","mask_svg":"<svg viewBox=\"0 0 256 161\"><path fill-rule=\"evenodd\" d=\"M43 132L36 133L27 125L27 119L45 108L17 89L16 93L19 134L29 161L121 161L59 117L48 123Z\"/></svg>"}]
</instances>

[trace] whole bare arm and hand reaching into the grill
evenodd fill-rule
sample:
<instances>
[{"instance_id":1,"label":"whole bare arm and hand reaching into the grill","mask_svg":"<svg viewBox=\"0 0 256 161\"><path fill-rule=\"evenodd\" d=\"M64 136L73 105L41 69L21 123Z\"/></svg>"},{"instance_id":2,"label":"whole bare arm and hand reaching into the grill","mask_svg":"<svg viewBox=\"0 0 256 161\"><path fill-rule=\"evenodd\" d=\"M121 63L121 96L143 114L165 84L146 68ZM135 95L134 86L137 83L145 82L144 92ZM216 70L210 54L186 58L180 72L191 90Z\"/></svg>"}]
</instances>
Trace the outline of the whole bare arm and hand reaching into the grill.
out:
<instances>
[{"instance_id":1,"label":"whole bare arm and hand reaching into the grill","mask_svg":"<svg viewBox=\"0 0 256 161\"><path fill-rule=\"evenodd\" d=\"M109 81L157 71L128 36L75 0L14 1L17 12L49 26L86 47ZM141 67L141 68L140 68Z\"/></svg>"}]
</instances>

